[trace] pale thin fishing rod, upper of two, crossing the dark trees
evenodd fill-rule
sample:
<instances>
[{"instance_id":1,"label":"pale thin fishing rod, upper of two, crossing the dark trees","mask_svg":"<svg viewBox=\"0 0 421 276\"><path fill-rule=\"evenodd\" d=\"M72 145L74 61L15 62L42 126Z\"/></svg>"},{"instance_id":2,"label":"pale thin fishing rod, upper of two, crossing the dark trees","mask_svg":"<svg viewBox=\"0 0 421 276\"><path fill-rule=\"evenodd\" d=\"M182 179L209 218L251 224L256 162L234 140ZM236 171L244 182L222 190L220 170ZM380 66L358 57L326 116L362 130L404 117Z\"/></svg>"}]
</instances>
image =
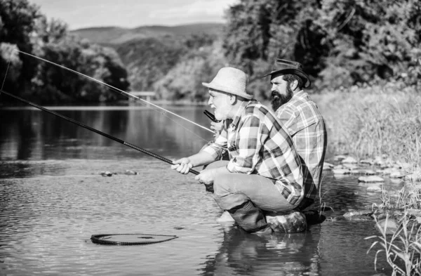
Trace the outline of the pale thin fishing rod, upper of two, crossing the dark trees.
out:
<instances>
[{"instance_id":1,"label":"pale thin fishing rod, upper of two, crossing the dark trees","mask_svg":"<svg viewBox=\"0 0 421 276\"><path fill-rule=\"evenodd\" d=\"M201 127L202 129L206 129L207 131L210 131L210 132L212 132L213 134L215 134L215 131L212 131L211 129L208 129L208 128L206 128L205 126L201 126L200 124L197 124L197 123L195 123L194 121L190 121L189 119L187 119L187 118L185 118L185 117L182 117L182 116L180 116L179 114L176 114L176 113L174 113L174 112L171 112L171 111L169 111L169 110L166 110L165 108L160 107L160 106L158 106L158 105L154 105L153 103L150 103L150 102L148 102L147 100L144 100L144 99L142 99L142 98L139 98L139 97L137 97L137 96L134 96L134 95L132 95L131 93L127 93L126 91L123 91L123 90L121 90L121 89L119 89L119 88L116 88L116 87L114 87L114 86L112 86L112 85L106 84L105 82L100 81L100 80L98 80L98 79L95 79L95 78L93 78L93 77L89 77L89 76L88 76L88 75L86 75L86 74L82 74L81 72L77 72L77 71L72 70L72 69L70 69L70 68L67 68L67 67L65 67L65 66L63 66L63 65L60 65L60 64L57 64L57 63L53 63L53 62L52 62L52 61L50 61L50 60L46 60L46 59L44 59L44 58L40 58L40 57L38 57L38 56L36 56L36 55L32 55L32 54L30 54L30 53L26 53L26 52L20 51L20 50L18 50L18 49L13 49L13 51L18 51L19 53L22 53L22 54L24 54L24 55L29 55L29 56L30 56L30 57L32 57L32 58L37 58L37 59L42 60L42 61L44 61L44 62L46 62L46 63L50 63L50 64L52 64L52 65L56 65L56 66L58 66L58 67L60 67L60 68L62 68L62 69L65 69L65 70L68 70L68 71L70 71L70 72L73 72L74 74L78 74L79 76L83 76L83 77L86 77L86 78L88 78L88 79L91 79L92 81L95 81L95 82L97 82L98 84L102 84L102 85L107 86L108 88L111 88L112 90L116 91L117 93L120 93L120 94L121 94L121 95L123 95L123 96L126 96L126 97L128 97L128 98L133 98L133 99L135 99L135 100L142 100L142 101L144 101L145 103L148 103L149 105L152 105L152 106L154 106L154 107L157 107L157 108L159 108L160 110L163 110L163 111L165 111L165 112L168 112L169 114L173 114L175 117L179 117L180 119L183 119L183 120L185 120L185 121L188 121L189 123L192 123L192 124L194 124L194 125L196 125L196 126ZM162 114L163 114L163 113L162 113Z\"/></svg>"}]
</instances>

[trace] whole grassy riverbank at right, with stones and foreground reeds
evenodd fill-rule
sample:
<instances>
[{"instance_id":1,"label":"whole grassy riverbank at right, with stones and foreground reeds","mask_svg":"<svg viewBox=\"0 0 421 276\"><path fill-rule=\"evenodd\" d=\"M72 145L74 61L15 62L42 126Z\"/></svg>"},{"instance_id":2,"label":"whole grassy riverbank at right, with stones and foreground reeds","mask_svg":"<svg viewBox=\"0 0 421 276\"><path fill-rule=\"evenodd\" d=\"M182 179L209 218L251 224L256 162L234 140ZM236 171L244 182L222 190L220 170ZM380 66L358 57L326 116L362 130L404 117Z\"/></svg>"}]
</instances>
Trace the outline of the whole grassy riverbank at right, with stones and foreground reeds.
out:
<instances>
[{"instance_id":1,"label":"whole grassy riverbank at right, with stones and foreground reeds","mask_svg":"<svg viewBox=\"0 0 421 276\"><path fill-rule=\"evenodd\" d=\"M375 220L380 235L366 238L375 239L368 251L379 249L375 244L380 244L393 275L420 272L416 257L421 252L420 90L398 82L352 86L312 96L328 126L329 152L346 154L357 164L352 169L342 164L338 170L359 171L356 168L368 162L380 167L377 172L388 171L389 178L396 176L399 183L403 182L400 190L387 192L381 185L382 178L375 176L373 182L380 185L368 187L367 192L379 192L382 204L373 203L366 210L349 210L344 215L353 220ZM376 254L375 265L377 261Z\"/></svg>"}]
</instances>

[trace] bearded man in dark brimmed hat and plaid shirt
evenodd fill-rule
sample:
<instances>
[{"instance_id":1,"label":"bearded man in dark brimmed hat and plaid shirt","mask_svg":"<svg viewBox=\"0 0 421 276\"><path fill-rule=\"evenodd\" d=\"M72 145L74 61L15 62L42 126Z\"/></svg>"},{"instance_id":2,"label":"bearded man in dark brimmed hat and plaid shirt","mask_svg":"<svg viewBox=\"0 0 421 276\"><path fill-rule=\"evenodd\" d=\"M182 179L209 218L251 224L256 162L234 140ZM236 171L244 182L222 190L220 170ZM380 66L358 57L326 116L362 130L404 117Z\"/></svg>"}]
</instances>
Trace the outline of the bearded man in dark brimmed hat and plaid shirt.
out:
<instances>
[{"instance_id":1,"label":"bearded man in dark brimmed hat and plaid shirt","mask_svg":"<svg viewBox=\"0 0 421 276\"><path fill-rule=\"evenodd\" d=\"M310 86L302 65L295 61L277 59L270 75L272 83L272 109L293 138L300 155L305 199L299 209L314 202L321 183L326 153L327 132L323 117L316 104L302 88Z\"/></svg>"}]
</instances>

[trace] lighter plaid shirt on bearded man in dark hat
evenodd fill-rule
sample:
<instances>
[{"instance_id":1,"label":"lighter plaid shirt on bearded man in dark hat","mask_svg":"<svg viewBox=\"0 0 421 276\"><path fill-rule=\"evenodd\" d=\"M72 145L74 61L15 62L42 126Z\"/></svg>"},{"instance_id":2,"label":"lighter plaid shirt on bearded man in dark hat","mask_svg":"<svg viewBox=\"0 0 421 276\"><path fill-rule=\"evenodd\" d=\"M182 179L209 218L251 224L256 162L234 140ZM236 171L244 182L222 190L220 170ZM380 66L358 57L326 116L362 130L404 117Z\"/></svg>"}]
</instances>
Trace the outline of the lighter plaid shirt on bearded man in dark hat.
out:
<instances>
[{"instance_id":1,"label":"lighter plaid shirt on bearded man in dark hat","mask_svg":"<svg viewBox=\"0 0 421 276\"><path fill-rule=\"evenodd\" d=\"M305 197L314 199L321 183L328 142L323 117L304 91L294 93L288 103L281 105L276 110L276 117L288 129L295 149L302 158Z\"/></svg>"}]
</instances>

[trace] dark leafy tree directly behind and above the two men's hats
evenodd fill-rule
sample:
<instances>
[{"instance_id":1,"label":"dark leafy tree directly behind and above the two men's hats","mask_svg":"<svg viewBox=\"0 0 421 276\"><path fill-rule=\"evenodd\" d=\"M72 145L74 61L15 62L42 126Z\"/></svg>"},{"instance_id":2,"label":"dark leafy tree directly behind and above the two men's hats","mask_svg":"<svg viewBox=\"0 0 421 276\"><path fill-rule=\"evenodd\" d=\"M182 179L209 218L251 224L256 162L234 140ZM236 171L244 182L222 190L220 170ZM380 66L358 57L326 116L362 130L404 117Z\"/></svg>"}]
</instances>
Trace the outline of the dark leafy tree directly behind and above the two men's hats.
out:
<instances>
[{"instance_id":1,"label":"dark leafy tree directly behind and above the two men's hats","mask_svg":"<svg viewBox=\"0 0 421 276\"><path fill-rule=\"evenodd\" d=\"M276 58L297 60L316 76L328 48L323 29L314 25L316 0L241 0L227 11L224 48L229 62L250 74L250 86L265 98L267 79ZM266 92L265 92L266 91Z\"/></svg>"}]
</instances>

